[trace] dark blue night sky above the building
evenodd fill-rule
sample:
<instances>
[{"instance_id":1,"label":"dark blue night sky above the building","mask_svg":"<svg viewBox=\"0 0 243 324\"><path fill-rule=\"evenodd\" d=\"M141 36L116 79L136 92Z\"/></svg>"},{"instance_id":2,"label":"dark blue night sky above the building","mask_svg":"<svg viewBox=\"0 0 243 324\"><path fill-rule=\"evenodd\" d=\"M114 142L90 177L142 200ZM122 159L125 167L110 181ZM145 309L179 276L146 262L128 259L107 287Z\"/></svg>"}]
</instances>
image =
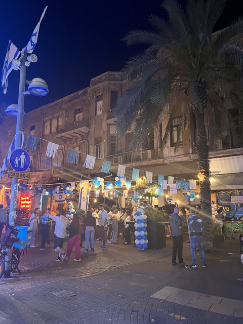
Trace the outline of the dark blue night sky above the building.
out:
<instances>
[{"instance_id":1,"label":"dark blue night sky above the building","mask_svg":"<svg viewBox=\"0 0 243 324\"><path fill-rule=\"evenodd\" d=\"M243 16L240 1L229 0L217 28ZM90 84L90 79L106 71L119 71L142 46L127 47L120 41L128 31L149 28L149 14L160 14L161 0L100 2L82 0L8 0L0 3L0 69L8 41L21 50L28 43L45 6L34 54L38 61L27 68L26 78L42 77L49 94L25 96L25 111L50 103ZM17 103L19 71L9 76L7 94L0 90L0 105Z\"/></svg>"}]
</instances>

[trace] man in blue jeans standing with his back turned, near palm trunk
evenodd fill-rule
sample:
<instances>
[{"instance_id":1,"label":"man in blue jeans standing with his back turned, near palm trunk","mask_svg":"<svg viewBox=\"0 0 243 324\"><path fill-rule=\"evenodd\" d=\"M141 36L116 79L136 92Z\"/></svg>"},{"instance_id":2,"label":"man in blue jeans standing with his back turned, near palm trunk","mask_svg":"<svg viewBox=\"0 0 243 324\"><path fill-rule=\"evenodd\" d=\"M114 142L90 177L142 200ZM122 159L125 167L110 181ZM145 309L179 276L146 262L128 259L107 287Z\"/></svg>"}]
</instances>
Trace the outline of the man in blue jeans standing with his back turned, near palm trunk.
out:
<instances>
[{"instance_id":1,"label":"man in blue jeans standing with his back turned, near palm trunk","mask_svg":"<svg viewBox=\"0 0 243 324\"><path fill-rule=\"evenodd\" d=\"M191 242L191 257L192 257L192 264L191 268L197 268L196 266L196 244L198 243L200 253L201 253L201 261L203 262L203 268L206 268L205 262L205 251L204 251L204 244L203 244L203 221L196 215L196 210L194 208L190 209L190 216L187 220L188 225L188 233L190 236Z\"/></svg>"}]
</instances>

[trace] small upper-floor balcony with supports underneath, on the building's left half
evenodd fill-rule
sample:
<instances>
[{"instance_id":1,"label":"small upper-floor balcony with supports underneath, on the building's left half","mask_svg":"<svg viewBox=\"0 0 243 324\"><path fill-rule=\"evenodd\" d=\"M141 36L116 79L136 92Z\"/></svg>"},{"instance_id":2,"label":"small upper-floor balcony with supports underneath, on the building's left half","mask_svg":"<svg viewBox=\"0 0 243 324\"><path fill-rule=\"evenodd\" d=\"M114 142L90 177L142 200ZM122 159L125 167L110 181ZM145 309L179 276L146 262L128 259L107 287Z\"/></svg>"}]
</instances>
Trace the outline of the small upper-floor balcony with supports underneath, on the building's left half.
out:
<instances>
[{"instance_id":1,"label":"small upper-floor balcony with supports underneath, on the building's left half","mask_svg":"<svg viewBox=\"0 0 243 324\"><path fill-rule=\"evenodd\" d=\"M56 138L71 143L80 138L86 138L89 133L89 127L90 118L83 118L82 120L73 121L73 123L57 126Z\"/></svg>"}]
</instances>

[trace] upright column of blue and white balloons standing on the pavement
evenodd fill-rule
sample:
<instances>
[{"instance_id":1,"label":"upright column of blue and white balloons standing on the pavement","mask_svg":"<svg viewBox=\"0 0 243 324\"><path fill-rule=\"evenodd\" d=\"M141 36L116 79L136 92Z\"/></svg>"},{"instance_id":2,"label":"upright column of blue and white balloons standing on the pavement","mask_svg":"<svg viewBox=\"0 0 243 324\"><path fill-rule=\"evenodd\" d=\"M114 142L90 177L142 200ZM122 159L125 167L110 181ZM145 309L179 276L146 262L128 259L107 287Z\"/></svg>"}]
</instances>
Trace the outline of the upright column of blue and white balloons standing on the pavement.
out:
<instances>
[{"instance_id":1,"label":"upright column of blue and white balloons standing on the pavement","mask_svg":"<svg viewBox=\"0 0 243 324\"><path fill-rule=\"evenodd\" d=\"M144 215L144 211L142 208L138 208L135 213L135 244L136 248L139 250L145 250L148 248L148 240L147 240L147 216Z\"/></svg>"}]
</instances>

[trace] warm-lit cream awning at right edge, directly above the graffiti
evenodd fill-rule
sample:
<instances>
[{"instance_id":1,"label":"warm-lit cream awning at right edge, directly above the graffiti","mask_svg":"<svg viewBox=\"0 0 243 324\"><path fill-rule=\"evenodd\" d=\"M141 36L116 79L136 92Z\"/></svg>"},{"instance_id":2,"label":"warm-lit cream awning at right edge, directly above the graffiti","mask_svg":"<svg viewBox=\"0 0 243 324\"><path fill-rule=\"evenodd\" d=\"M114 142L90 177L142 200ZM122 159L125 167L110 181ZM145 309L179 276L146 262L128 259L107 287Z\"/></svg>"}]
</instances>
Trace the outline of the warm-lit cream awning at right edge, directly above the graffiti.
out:
<instances>
[{"instance_id":1,"label":"warm-lit cream awning at right edge, directly above the graffiti","mask_svg":"<svg viewBox=\"0 0 243 324\"><path fill-rule=\"evenodd\" d=\"M243 172L211 176L211 190L243 189Z\"/></svg>"}]
</instances>

